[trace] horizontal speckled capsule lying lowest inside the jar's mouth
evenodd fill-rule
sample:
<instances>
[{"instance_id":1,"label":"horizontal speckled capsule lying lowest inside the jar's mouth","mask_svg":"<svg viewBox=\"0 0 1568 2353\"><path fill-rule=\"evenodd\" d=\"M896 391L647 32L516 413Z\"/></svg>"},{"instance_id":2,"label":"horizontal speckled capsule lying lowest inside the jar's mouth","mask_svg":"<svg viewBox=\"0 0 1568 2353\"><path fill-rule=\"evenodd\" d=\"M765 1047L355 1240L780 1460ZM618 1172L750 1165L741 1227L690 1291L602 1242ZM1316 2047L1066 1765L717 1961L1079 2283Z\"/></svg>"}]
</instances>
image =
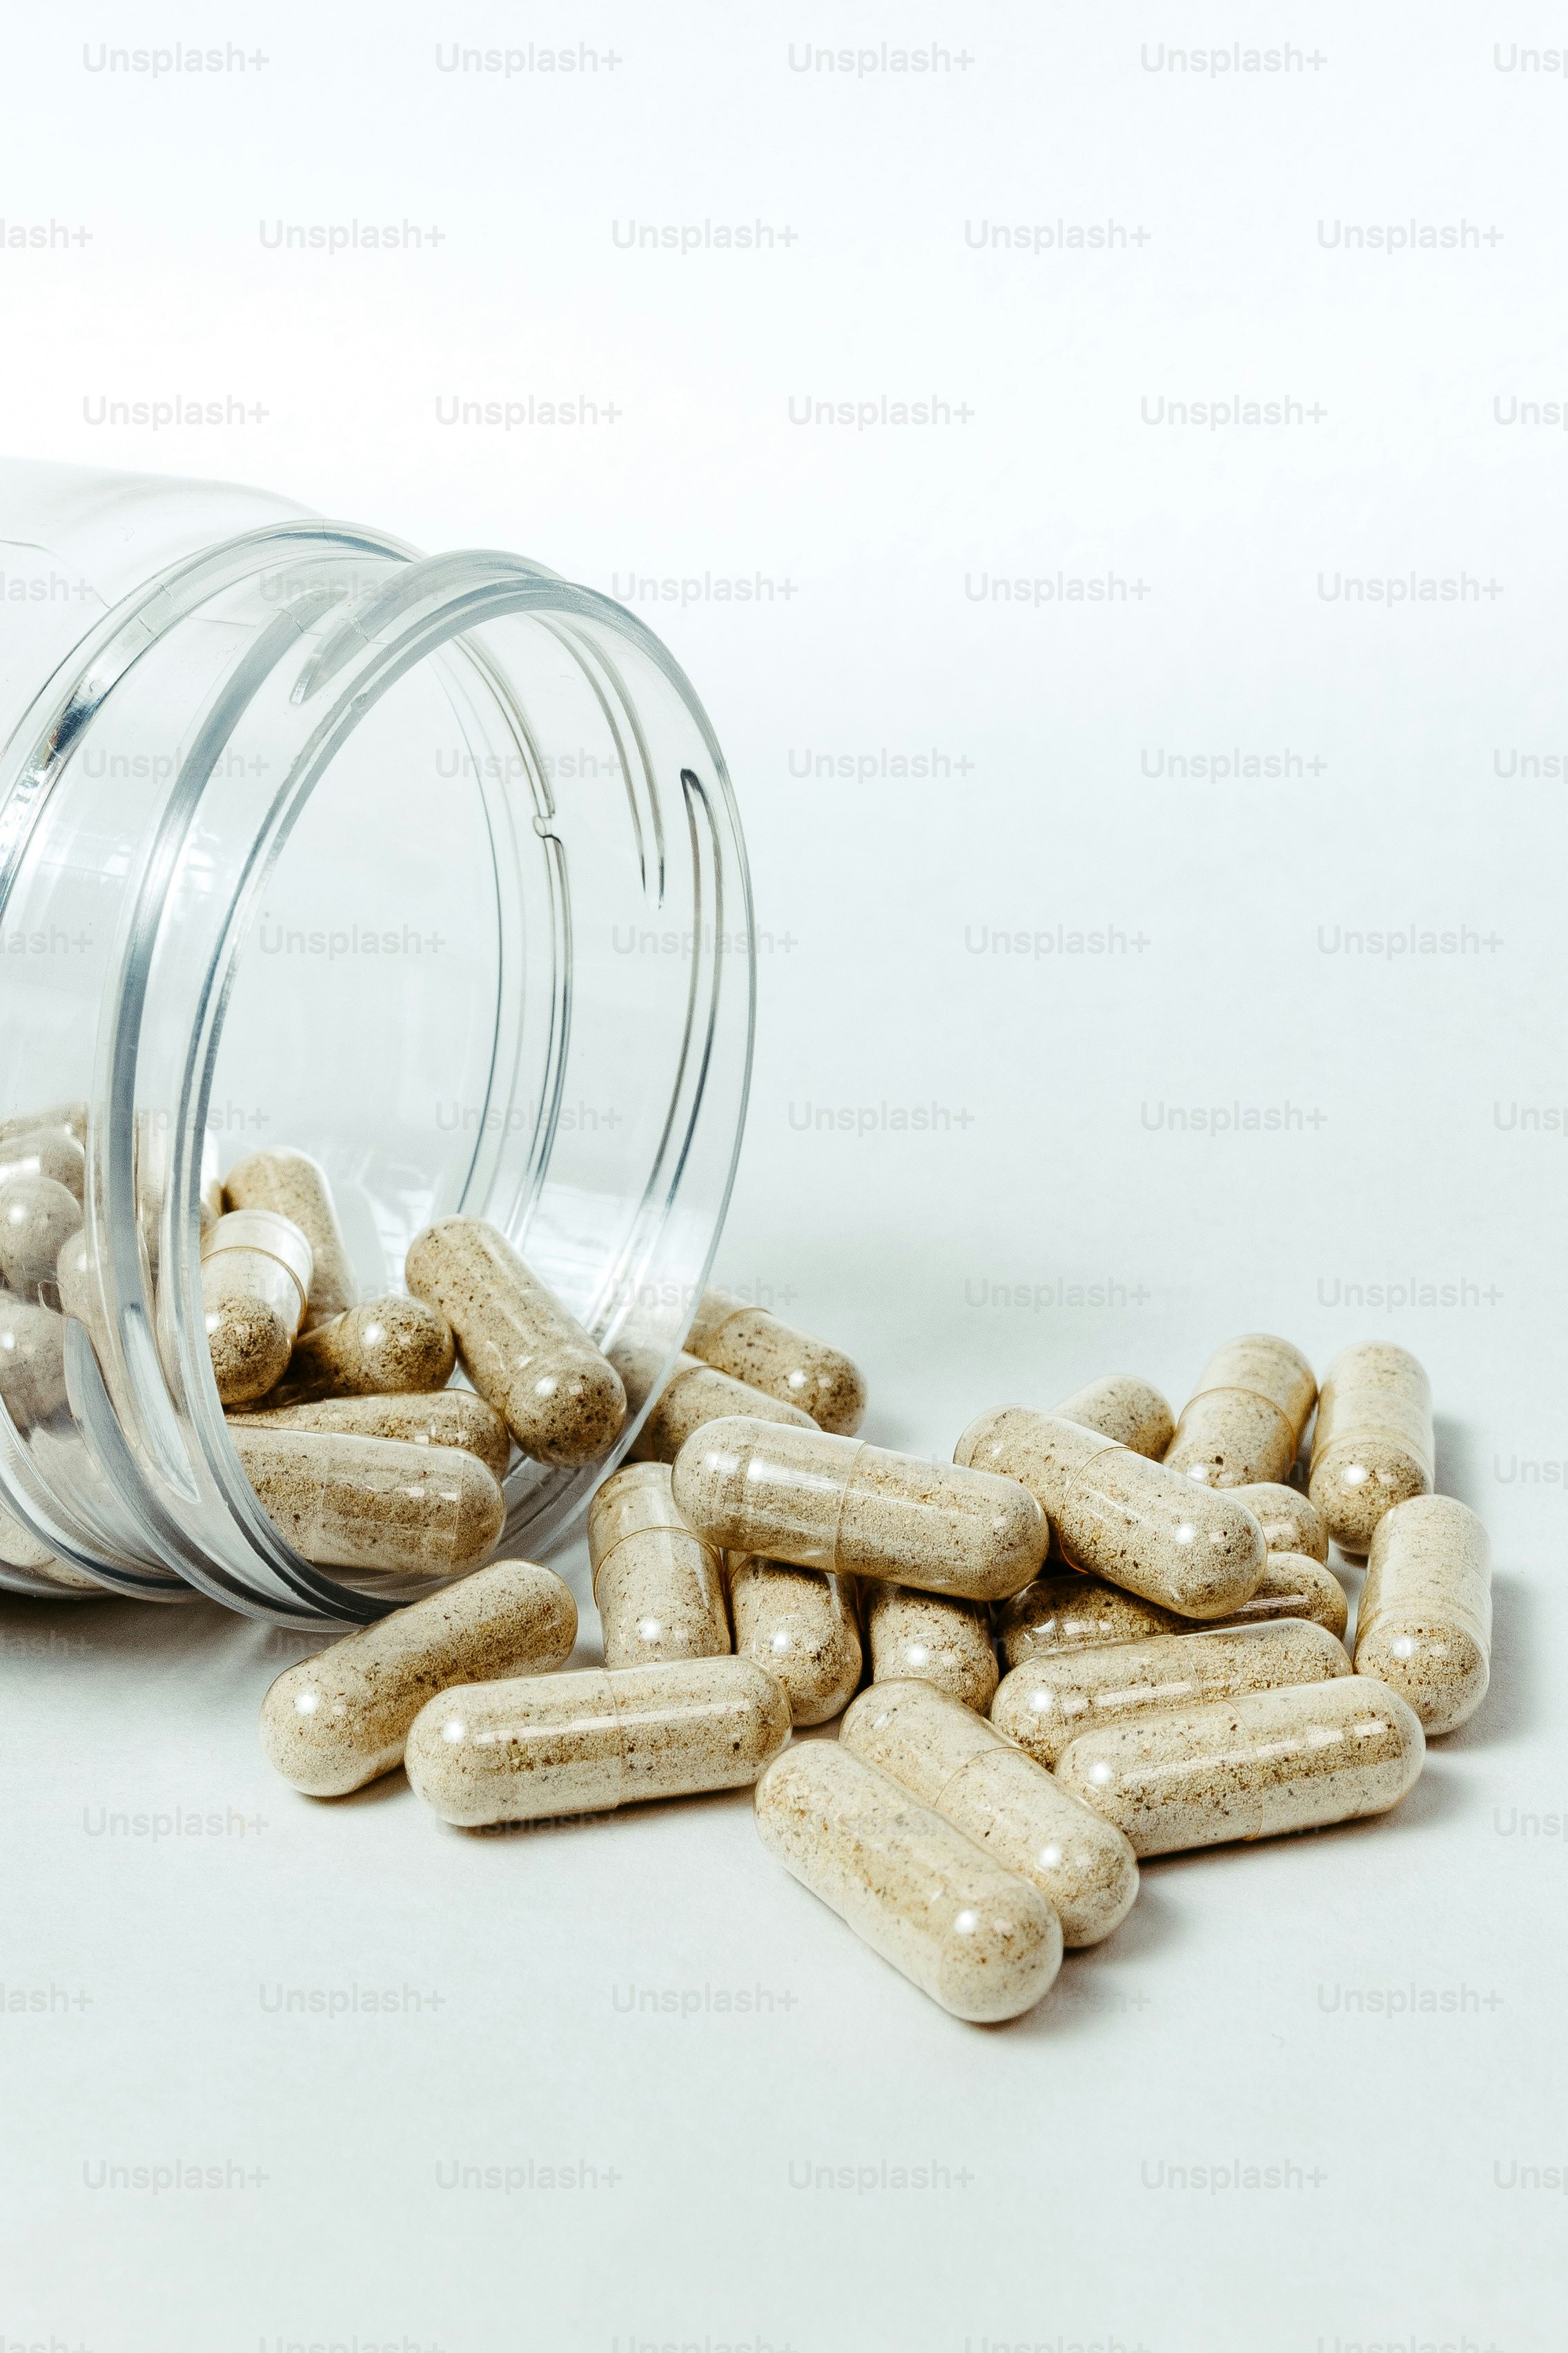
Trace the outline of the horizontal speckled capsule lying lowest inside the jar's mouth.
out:
<instances>
[{"instance_id":1,"label":"horizontal speckled capsule lying lowest inside the jar's mouth","mask_svg":"<svg viewBox=\"0 0 1568 2353\"><path fill-rule=\"evenodd\" d=\"M501 1534L505 1497L458 1447L256 1431L249 1419L230 1421L228 1435L277 1534L322 1569L451 1577Z\"/></svg>"}]
</instances>

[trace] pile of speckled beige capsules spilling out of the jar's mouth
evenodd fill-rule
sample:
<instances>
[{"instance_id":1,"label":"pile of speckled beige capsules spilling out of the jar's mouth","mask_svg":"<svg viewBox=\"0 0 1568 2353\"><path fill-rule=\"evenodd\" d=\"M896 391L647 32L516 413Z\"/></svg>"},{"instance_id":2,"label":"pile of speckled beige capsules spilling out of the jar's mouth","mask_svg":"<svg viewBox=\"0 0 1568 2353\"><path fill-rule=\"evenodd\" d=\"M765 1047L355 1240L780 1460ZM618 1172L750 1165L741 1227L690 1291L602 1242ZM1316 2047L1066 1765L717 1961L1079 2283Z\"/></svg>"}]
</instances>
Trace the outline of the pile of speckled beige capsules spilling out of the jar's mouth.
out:
<instances>
[{"instance_id":1,"label":"pile of speckled beige capsules spilling out of the jar's mouth","mask_svg":"<svg viewBox=\"0 0 1568 2353\"><path fill-rule=\"evenodd\" d=\"M223 1228L259 1214L289 1219L322 1264L331 1205L303 1155L242 1162L226 1200L209 1266L256 1249L254 1224ZM221 1381L237 1273L252 1297L233 1266L209 1294ZM635 1351L599 1355L475 1219L418 1235L407 1278L411 1299L306 1329L240 1428L263 1506L308 1558L339 1555L289 1508L301 1447L470 1449L494 1482L512 1440L592 1461L649 1395ZM301 1292L317 1297L310 1275ZM409 1334L430 1372L451 1365L421 1304L473 1395L374 1388L371 1327ZM350 1360L364 1388L322 1391ZM983 1414L952 1464L858 1440L863 1414L849 1358L705 1292L637 1459L588 1511L604 1666L557 1673L576 1645L567 1584L491 1562L280 1675L266 1755L317 1798L402 1762L463 1828L755 1784L762 1842L797 1880L947 2012L999 2021L1046 1993L1065 1946L1119 1927L1140 1857L1382 1814L1425 1737L1486 1692L1486 1529L1432 1492L1432 1393L1399 1346L1345 1348L1319 1393L1298 1348L1246 1334L1180 1421L1117 1374L1051 1412ZM284 1440L296 1452L273 1454ZM339 1515L355 1478L348 1464ZM458 1497L463 1480L433 1478ZM395 1492L404 1525L386 1534L411 1560L425 1487ZM454 1511L461 1569L494 1548L501 1504L494 1520L473 1497ZM1354 1666L1331 1537L1366 1560ZM839 1715L837 1741L790 1746L795 1725Z\"/></svg>"}]
</instances>

